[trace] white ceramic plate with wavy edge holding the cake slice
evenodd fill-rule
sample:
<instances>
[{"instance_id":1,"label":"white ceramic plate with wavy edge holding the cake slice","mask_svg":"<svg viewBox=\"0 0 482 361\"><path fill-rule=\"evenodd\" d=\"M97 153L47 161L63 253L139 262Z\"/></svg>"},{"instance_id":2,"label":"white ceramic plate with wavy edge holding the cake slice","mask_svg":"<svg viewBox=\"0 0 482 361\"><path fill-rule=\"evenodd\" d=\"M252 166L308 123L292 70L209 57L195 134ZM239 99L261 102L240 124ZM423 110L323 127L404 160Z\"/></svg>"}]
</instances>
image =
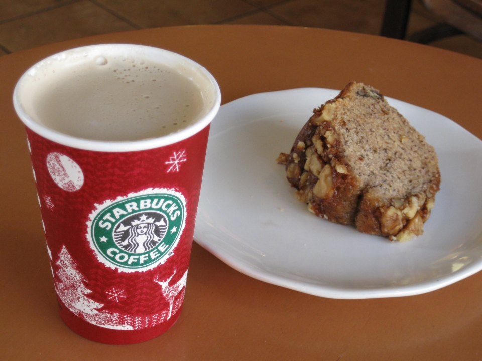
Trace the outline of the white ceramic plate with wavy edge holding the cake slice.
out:
<instances>
[{"instance_id":1,"label":"white ceramic plate with wavy edge holding the cake slice","mask_svg":"<svg viewBox=\"0 0 482 361\"><path fill-rule=\"evenodd\" d=\"M330 298L408 296L482 269L482 141L446 117L388 99L435 147L442 176L425 233L391 243L320 219L275 159L336 90L254 94L212 122L194 237L236 270Z\"/></svg>"}]
</instances>

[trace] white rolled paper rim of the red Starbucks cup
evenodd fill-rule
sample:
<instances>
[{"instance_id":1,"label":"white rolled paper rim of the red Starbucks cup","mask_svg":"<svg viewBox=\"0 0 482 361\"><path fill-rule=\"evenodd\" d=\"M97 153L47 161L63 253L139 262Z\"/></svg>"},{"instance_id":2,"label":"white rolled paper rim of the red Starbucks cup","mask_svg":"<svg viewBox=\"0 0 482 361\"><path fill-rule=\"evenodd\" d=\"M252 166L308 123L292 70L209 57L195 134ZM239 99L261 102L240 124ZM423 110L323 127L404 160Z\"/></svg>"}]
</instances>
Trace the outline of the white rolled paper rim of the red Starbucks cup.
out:
<instances>
[{"instance_id":1,"label":"white rolled paper rim of the red Starbucks cup","mask_svg":"<svg viewBox=\"0 0 482 361\"><path fill-rule=\"evenodd\" d=\"M148 139L141 139L141 140L122 140L122 141L104 141L104 140L91 140L91 139L84 139L78 138L71 135L67 135L64 133L60 133L58 131L52 130L47 128L44 125L39 124L38 122L34 121L24 110L21 102L20 102L20 84L22 81L28 76L29 72L31 72L34 68L39 66L41 63L45 61L49 61L53 58L58 58L65 53L72 52L72 51L82 51L87 50L88 48L101 48L101 47L116 47L116 46L128 46L134 48L142 48L146 49L151 52L158 52L159 54L168 54L175 58L178 58L180 61L187 62L191 64L194 68L201 71L212 83L214 86L214 93L215 93L215 100L214 104L211 109L196 123L184 128L178 132L164 135L161 137L156 138L148 138ZM47 58L42 59L41 61L37 62L33 66L31 66L25 73L20 77L15 85L14 93L13 93L13 103L15 111L19 116L20 120L27 126L29 129L34 131L35 133L47 138L53 142L69 146L72 148L83 149L83 150L91 150L91 151L101 151L101 152L129 152L129 151L140 151L140 150L147 150L147 149L154 149L159 148L162 146L174 144L185 140L208 126L211 121L216 116L219 107L221 105L221 91L219 89L219 85L217 84L216 79L209 73L209 71L204 68L202 65L196 63L194 60L191 60L183 55L178 53L174 53L172 51L147 46L147 45L138 45L138 44L128 44L128 43L111 43L111 44L96 44L96 45L87 45L77 48L71 48L68 50L64 50L62 52L50 55Z\"/></svg>"}]
</instances>

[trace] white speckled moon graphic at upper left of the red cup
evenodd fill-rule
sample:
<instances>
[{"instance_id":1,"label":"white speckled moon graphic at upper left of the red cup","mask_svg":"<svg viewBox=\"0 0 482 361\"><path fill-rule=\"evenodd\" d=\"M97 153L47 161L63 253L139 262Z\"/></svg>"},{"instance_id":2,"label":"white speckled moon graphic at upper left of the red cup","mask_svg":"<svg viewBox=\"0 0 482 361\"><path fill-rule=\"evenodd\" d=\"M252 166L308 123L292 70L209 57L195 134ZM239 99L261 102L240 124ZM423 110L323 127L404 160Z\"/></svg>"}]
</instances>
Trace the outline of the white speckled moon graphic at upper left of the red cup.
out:
<instances>
[{"instance_id":1,"label":"white speckled moon graphic at upper left of the red cup","mask_svg":"<svg viewBox=\"0 0 482 361\"><path fill-rule=\"evenodd\" d=\"M57 186L65 191L78 191L84 184L82 169L64 154L50 153L47 155L47 169Z\"/></svg>"}]
</instances>

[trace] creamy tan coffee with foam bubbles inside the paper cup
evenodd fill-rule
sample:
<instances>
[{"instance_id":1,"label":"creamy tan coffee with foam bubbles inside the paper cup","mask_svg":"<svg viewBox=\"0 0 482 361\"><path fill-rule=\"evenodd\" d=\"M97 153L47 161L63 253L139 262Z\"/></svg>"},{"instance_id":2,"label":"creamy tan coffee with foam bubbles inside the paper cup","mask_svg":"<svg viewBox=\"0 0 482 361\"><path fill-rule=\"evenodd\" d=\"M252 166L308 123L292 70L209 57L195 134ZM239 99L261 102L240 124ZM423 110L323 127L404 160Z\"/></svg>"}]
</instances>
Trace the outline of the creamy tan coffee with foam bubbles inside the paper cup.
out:
<instances>
[{"instance_id":1,"label":"creamy tan coffee with foam bubbles inside the paper cup","mask_svg":"<svg viewBox=\"0 0 482 361\"><path fill-rule=\"evenodd\" d=\"M73 137L132 141L178 132L212 108L212 83L191 64L102 50L72 51L31 69L19 87L26 113Z\"/></svg>"}]
</instances>

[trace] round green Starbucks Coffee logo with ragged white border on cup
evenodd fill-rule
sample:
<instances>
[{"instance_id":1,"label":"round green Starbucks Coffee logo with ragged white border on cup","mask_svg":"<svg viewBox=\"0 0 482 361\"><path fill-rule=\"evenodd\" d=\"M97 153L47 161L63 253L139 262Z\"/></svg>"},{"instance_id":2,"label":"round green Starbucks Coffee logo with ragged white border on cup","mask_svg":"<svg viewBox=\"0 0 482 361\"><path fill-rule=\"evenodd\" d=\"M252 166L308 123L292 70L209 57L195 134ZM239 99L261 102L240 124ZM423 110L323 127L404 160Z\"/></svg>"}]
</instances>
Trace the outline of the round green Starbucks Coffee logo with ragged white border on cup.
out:
<instances>
[{"instance_id":1,"label":"round green Starbucks Coffee logo with ragged white border on cup","mask_svg":"<svg viewBox=\"0 0 482 361\"><path fill-rule=\"evenodd\" d=\"M98 206L87 222L87 238L106 266L123 272L146 271L173 254L185 219L182 194L149 189Z\"/></svg>"}]
</instances>

